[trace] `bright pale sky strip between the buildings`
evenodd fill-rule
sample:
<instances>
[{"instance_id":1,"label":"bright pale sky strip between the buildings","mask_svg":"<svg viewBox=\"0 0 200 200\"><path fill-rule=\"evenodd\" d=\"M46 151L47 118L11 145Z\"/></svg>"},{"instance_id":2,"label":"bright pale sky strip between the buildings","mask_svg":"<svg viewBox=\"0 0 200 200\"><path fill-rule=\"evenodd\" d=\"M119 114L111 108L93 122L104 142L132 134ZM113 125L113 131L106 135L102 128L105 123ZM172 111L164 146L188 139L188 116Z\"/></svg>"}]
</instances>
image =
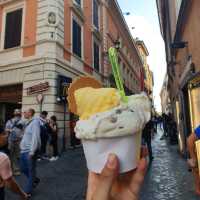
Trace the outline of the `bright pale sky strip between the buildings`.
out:
<instances>
[{"instance_id":1,"label":"bright pale sky strip between the buildings","mask_svg":"<svg viewBox=\"0 0 200 200\"><path fill-rule=\"evenodd\" d=\"M156 0L118 0L134 38L143 40L149 51L147 62L154 74L154 104L161 111L160 91L166 73L164 42L160 33ZM134 28L133 28L134 27Z\"/></svg>"}]
</instances>

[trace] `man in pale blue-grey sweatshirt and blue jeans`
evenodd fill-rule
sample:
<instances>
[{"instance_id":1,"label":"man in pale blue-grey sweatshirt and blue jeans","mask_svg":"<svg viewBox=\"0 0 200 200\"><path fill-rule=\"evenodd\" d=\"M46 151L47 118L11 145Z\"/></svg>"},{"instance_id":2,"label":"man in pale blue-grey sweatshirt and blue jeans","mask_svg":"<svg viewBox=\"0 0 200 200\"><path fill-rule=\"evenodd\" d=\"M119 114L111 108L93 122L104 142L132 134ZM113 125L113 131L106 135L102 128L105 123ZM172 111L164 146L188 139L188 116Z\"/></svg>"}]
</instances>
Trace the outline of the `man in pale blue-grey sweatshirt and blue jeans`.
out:
<instances>
[{"instance_id":1,"label":"man in pale blue-grey sweatshirt and blue jeans","mask_svg":"<svg viewBox=\"0 0 200 200\"><path fill-rule=\"evenodd\" d=\"M28 179L26 193L32 194L33 187L36 187L40 179L36 177L37 155L40 152L40 121L34 117L35 110L28 109L24 112L27 119L24 135L20 144L20 164L21 171Z\"/></svg>"}]
</instances>

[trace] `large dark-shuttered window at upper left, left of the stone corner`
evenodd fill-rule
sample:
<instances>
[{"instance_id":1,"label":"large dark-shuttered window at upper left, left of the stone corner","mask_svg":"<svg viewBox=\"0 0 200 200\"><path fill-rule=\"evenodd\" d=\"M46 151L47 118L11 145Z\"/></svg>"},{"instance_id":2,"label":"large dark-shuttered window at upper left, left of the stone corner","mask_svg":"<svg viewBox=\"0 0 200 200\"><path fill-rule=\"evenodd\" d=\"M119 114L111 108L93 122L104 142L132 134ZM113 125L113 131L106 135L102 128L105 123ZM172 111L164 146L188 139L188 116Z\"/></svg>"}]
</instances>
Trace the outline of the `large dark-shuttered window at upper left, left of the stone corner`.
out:
<instances>
[{"instance_id":1,"label":"large dark-shuttered window at upper left, left of the stone corner","mask_svg":"<svg viewBox=\"0 0 200 200\"><path fill-rule=\"evenodd\" d=\"M22 9L6 14L4 49L21 45Z\"/></svg>"}]
</instances>

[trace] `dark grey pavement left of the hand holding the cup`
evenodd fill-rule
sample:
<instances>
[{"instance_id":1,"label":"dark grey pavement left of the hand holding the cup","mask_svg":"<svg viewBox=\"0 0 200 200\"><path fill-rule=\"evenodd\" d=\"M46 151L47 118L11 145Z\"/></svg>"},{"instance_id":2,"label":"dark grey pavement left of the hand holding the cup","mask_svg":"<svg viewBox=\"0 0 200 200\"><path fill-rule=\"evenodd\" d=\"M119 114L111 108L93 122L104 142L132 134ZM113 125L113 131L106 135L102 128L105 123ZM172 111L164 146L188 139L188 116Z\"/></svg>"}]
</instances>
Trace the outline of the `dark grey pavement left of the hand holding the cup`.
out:
<instances>
[{"instance_id":1,"label":"dark grey pavement left of the hand holding the cup","mask_svg":"<svg viewBox=\"0 0 200 200\"><path fill-rule=\"evenodd\" d=\"M87 183L86 163L81 148L68 150L56 162L38 162L41 183L34 191L33 200L83 200ZM17 178L24 185L23 176ZM17 196L6 192L6 200Z\"/></svg>"}]
</instances>

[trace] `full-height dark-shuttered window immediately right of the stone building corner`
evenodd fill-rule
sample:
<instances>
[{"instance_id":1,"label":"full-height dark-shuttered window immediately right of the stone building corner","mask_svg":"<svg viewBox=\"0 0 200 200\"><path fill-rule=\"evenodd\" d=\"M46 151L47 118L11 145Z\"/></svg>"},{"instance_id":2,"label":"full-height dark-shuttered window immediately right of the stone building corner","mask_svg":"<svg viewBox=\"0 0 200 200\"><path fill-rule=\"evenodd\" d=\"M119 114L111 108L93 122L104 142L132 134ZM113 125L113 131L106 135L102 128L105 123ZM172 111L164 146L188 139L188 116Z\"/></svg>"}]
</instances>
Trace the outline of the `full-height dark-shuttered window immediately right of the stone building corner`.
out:
<instances>
[{"instance_id":1,"label":"full-height dark-shuttered window immediately right of the stone building corner","mask_svg":"<svg viewBox=\"0 0 200 200\"><path fill-rule=\"evenodd\" d=\"M81 58L81 26L73 19L73 53Z\"/></svg>"}]
</instances>

